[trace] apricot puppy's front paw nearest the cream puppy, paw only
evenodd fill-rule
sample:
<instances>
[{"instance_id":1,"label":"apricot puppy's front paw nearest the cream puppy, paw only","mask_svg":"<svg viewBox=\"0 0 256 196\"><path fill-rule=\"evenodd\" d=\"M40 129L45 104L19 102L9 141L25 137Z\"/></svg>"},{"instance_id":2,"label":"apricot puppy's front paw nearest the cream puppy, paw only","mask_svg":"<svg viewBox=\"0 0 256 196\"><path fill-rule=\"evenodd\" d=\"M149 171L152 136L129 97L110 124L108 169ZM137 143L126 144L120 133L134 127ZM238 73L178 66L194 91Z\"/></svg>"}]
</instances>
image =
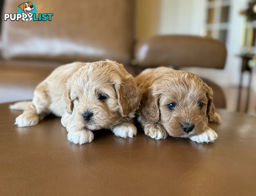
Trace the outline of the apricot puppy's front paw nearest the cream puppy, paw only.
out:
<instances>
[{"instance_id":1,"label":"apricot puppy's front paw nearest the cream puppy, paw only","mask_svg":"<svg viewBox=\"0 0 256 196\"><path fill-rule=\"evenodd\" d=\"M148 123L144 127L144 132L152 139L160 140L167 138L168 134L162 125Z\"/></svg>"}]
</instances>

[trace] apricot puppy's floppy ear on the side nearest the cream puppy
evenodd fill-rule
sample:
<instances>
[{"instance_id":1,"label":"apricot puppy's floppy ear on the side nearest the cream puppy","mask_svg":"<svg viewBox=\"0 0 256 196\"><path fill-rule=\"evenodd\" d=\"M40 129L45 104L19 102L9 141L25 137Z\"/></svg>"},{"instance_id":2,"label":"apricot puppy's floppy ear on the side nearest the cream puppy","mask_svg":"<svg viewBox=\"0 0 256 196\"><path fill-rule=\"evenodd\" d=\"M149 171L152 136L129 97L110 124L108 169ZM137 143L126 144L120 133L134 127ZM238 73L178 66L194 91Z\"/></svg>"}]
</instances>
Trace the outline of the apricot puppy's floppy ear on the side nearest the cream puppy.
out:
<instances>
[{"instance_id":1,"label":"apricot puppy's floppy ear on the side nearest the cream puppy","mask_svg":"<svg viewBox=\"0 0 256 196\"><path fill-rule=\"evenodd\" d=\"M153 93L152 87L143 93L139 112L146 121L155 123L159 120L158 101L159 95Z\"/></svg>"}]
</instances>

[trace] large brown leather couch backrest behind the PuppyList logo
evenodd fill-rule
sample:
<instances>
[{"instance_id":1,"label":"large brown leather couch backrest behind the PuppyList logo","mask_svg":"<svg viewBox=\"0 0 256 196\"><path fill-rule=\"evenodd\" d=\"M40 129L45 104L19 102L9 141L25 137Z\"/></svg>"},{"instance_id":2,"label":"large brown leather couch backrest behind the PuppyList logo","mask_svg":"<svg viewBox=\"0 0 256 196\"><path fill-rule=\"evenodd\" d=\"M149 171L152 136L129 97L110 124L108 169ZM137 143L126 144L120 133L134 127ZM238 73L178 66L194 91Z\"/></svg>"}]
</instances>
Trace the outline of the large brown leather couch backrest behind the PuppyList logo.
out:
<instances>
[{"instance_id":1,"label":"large brown leather couch backrest behind the PuppyList logo","mask_svg":"<svg viewBox=\"0 0 256 196\"><path fill-rule=\"evenodd\" d=\"M5 0L3 13L17 13L20 0ZM32 0L52 21L2 22L5 58L130 61L132 0Z\"/></svg>"}]
</instances>

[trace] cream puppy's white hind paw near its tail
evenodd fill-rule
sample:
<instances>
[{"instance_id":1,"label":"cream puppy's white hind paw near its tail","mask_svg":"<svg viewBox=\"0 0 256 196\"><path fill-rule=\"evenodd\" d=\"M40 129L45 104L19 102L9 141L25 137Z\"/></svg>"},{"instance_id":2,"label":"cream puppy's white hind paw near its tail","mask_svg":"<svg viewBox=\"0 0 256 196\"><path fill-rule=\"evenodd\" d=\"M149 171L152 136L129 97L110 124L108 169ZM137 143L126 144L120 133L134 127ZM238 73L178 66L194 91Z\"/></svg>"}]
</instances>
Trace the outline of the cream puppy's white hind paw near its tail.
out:
<instances>
[{"instance_id":1,"label":"cream puppy's white hind paw near its tail","mask_svg":"<svg viewBox=\"0 0 256 196\"><path fill-rule=\"evenodd\" d=\"M20 114L16 118L15 125L18 127L30 127L37 125L39 121L37 114Z\"/></svg>"}]
</instances>

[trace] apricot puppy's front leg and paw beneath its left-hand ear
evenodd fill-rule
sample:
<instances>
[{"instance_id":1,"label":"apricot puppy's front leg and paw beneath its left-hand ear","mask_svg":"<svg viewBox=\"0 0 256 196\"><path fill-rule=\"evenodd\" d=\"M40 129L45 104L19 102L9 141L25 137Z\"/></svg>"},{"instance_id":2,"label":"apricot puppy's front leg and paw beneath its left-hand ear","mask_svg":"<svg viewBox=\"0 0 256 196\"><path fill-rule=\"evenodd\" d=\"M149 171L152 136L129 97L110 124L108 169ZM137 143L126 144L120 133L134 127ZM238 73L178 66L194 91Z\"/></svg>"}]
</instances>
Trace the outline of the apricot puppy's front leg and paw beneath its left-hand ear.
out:
<instances>
[{"instance_id":1,"label":"apricot puppy's front leg and paw beneath its left-hand ear","mask_svg":"<svg viewBox=\"0 0 256 196\"><path fill-rule=\"evenodd\" d=\"M168 133L159 123L147 122L143 118L141 118L141 116L139 116L137 119L141 126L144 128L145 134L150 138L156 140L167 138Z\"/></svg>"}]
</instances>

